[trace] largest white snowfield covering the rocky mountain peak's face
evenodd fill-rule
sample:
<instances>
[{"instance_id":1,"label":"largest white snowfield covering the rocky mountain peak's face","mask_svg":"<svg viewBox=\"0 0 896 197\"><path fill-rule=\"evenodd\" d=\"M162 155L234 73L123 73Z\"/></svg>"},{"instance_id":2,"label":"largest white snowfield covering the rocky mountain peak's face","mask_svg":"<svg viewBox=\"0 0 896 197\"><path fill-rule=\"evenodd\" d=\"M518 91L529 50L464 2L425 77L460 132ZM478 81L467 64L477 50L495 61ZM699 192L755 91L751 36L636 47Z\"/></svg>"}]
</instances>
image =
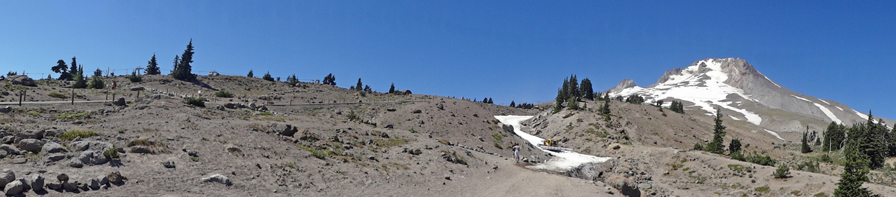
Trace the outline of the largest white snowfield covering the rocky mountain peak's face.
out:
<instances>
[{"instance_id":1,"label":"largest white snowfield covering the rocky mountain peak's face","mask_svg":"<svg viewBox=\"0 0 896 197\"><path fill-rule=\"evenodd\" d=\"M711 71L697 73L697 70L700 69L700 63L706 64L706 67ZM701 61L700 63L688 66L682 70L680 74L669 76L668 81L657 84L649 89L632 87L622 90L619 93L612 94L611 96L616 97L638 94L650 98L675 98L692 102L694 103L694 106L702 107L703 110L710 113L715 113L716 110L712 106L718 105L743 114L746 121L751 124L762 124L762 117L759 115L742 108L730 107L728 106L732 103L730 101L722 101L727 100L728 95L731 94L737 94L744 99L755 99L751 99L749 96L745 95L743 90L731 87L723 82L728 80L728 74L721 71L721 63L712 60ZM702 86L697 86L700 83L703 83Z\"/></svg>"}]
</instances>

